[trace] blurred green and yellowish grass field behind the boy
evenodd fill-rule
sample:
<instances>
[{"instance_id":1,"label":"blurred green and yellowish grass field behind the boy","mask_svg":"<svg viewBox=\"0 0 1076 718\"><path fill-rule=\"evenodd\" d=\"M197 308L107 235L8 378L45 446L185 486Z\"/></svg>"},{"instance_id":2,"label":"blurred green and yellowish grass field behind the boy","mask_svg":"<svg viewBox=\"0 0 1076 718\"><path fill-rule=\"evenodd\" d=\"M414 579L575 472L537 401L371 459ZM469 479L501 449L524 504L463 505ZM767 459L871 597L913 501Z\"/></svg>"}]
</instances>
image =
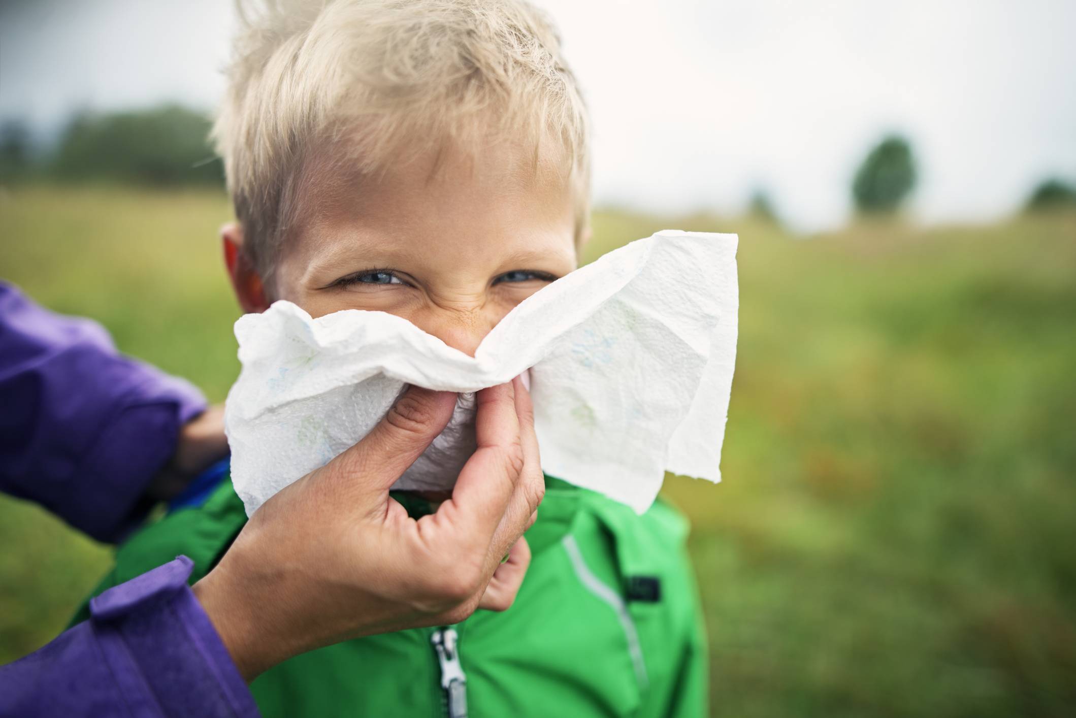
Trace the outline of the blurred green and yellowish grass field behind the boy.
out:
<instances>
[{"instance_id":1,"label":"blurred green and yellowish grass field behind the boy","mask_svg":"<svg viewBox=\"0 0 1076 718\"><path fill-rule=\"evenodd\" d=\"M238 310L217 194L9 189L0 277L223 399ZM724 483L693 521L720 716L1076 715L1076 215L861 225L598 212L587 258L738 231ZM0 499L0 663L109 550Z\"/></svg>"}]
</instances>

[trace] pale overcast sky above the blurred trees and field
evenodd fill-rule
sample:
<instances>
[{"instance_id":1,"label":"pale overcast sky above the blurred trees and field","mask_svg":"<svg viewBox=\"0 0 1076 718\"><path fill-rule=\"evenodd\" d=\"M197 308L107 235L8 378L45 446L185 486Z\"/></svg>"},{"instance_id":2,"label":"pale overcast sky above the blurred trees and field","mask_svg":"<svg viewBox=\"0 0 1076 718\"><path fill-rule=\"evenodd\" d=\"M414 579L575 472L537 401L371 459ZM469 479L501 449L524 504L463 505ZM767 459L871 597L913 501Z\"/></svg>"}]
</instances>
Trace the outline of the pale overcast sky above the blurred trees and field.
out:
<instances>
[{"instance_id":1,"label":"pale overcast sky above the blurred trees and field","mask_svg":"<svg viewBox=\"0 0 1076 718\"><path fill-rule=\"evenodd\" d=\"M924 221L1011 212L1076 179L1073 0L540 0L595 126L597 201L739 209L755 187L803 229L840 224L889 130L912 141ZM223 89L227 0L0 0L0 116Z\"/></svg>"}]
</instances>

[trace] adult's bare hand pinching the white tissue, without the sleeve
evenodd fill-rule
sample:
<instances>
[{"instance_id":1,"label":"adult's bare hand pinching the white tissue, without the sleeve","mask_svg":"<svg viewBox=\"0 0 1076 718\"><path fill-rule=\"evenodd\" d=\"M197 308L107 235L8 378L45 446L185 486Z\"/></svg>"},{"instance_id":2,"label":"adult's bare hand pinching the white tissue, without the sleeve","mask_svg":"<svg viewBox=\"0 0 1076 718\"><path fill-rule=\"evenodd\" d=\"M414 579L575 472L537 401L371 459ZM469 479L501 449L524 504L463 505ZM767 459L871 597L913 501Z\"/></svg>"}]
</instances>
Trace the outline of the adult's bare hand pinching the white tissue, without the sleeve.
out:
<instances>
[{"instance_id":1,"label":"adult's bare hand pinching the white tissue, without the sleeve","mask_svg":"<svg viewBox=\"0 0 1076 718\"><path fill-rule=\"evenodd\" d=\"M478 450L436 513L411 519L388 495L455 400L410 388L363 440L255 511L195 585L244 678L340 640L512 604L530 562L521 535L544 493L519 378L478 393Z\"/></svg>"}]
</instances>

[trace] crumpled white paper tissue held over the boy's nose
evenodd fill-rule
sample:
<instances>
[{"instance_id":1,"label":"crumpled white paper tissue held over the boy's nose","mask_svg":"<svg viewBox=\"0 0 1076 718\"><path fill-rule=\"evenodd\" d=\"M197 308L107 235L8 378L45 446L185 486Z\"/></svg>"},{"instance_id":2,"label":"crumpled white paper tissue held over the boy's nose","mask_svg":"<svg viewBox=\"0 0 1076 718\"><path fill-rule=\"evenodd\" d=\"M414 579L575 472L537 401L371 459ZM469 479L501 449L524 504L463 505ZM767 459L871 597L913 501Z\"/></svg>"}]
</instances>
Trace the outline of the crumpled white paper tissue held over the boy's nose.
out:
<instances>
[{"instance_id":1,"label":"crumpled white paper tissue held over the boy's nose","mask_svg":"<svg viewBox=\"0 0 1076 718\"><path fill-rule=\"evenodd\" d=\"M231 477L247 515L365 436L405 385L461 392L394 485L451 489L475 451L473 392L529 369L541 465L638 512L665 470L719 481L736 356L735 235L660 231L535 293L475 356L399 316L318 319L288 301L236 322Z\"/></svg>"}]
</instances>

